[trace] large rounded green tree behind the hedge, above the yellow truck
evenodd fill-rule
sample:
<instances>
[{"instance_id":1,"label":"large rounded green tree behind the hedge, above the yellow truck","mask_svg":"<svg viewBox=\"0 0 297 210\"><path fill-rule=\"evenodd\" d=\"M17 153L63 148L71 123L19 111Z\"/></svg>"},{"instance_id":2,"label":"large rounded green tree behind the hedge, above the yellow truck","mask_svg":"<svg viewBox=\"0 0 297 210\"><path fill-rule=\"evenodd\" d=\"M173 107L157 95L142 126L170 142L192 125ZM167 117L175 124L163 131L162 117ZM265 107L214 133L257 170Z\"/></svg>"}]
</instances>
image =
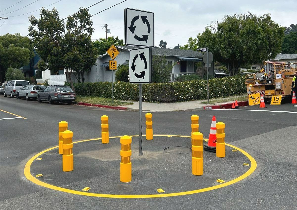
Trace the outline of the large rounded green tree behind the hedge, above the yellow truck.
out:
<instances>
[{"instance_id":1,"label":"large rounded green tree behind the hedge, above the yellow truck","mask_svg":"<svg viewBox=\"0 0 297 210\"><path fill-rule=\"evenodd\" d=\"M208 47L233 76L242 65L274 59L281 52L284 31L269 14L226 15L222 22L197 35L197 45Z\"/></svg>"}]
</instances>

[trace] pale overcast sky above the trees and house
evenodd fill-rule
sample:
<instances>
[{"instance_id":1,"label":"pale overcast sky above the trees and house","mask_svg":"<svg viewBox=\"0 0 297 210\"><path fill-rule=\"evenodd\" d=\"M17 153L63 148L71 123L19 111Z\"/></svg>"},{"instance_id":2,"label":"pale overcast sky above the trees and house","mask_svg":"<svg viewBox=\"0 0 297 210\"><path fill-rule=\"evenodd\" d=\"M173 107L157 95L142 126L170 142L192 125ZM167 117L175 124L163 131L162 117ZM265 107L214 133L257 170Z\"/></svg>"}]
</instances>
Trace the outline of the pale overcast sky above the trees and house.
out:
<instances>
[{"instance_id":1,"label":"pale overcast sky above the trees and house","mask_svg":"<svg viewBox=\"0 0 297 210\"><path fill-rule=\"evenodd\" d=\"M41 7L46 7L59 0L19 1L20 0L0 1L1 17L9 18L7 20L0 20L0 25L3 23L0 28L1 35L7 33L20 33L23 36L27 35L29 15L39 17L39 11L32 11L40 9ZM68 15L72 15L73 13L77 12L80 7L89 7L98 1L99 0L60 0L59 2L46 7L46 9L52 9L53 7L56 7L59 11L60 17L65 18ZM93 15L121 1L122 0L105 0L89 8L89 11ZM17 2L19 3L13 7L10 7ZM24 7L28 4L31 5ZM10 8L6 9L8 7ZM20 9L21 7L24 8ZM296 24L297 22L297 12L294 9L294 7L296 7L296 0L127 0L92 17L93 26L95 28L92 39L105 38L105 30L100 27L105 24L108 24L108 28L111 30L111 34L108 34L109 36L119 36L120 39L124 39L124 8L126 7L154 12L155 45L158 46L159 41L164 40L167 42L168 47L170 48L173 48L178 43L181 45L186 44L189 37L195 37L198 33L203 32L205 27L211 24L211 22L217 20L221 21L224 15L233 15L238 13L244 14L248 11L251 11L255 15L270 13L272 20L279 23L281 26L289 27L290 24ZM29 14L22 15L24 13ZM11 17L15 15L20 16Z\"/></svg>"}]
</instances>

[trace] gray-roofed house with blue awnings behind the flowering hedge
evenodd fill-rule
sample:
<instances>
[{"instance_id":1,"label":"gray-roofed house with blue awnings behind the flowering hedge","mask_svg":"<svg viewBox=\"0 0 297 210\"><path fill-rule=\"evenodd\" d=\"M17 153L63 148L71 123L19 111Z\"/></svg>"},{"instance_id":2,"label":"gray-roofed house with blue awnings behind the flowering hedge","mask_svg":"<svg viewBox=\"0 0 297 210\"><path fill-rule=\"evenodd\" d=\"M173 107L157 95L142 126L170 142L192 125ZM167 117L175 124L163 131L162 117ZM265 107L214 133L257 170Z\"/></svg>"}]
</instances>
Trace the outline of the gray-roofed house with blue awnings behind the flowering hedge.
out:
<instances>
[{"instance_id":1,"label":"gray-roofed house with blue awnings behind the flowering hedge","mask_svg":"<svg viewBox=\"0 0 297 210\"><path fill-rule=\"evenodd\" d=\"M114 59L117 65L129 65L129 50L138 47L132 46L116 46L119 50L119 55ZM181 50L181 49L167 49L167 48L152 48L153 56L165 56L169 65L173 65L172 72L170 72L171 81L177 76L196 74L195 63L202 61L203 54L194 50ZM112 77L115 79L114 72L109 70L110 57L107 53L100 55L97 59L96 66L91 68L85 77L88 82L111 82ZM213 65L212 65L213 66ZM209 71L213 74L213 70ZM115 80L114 80L115 81ZM153 81L154 82L154 81ZM169 81L168 81L169 82Z\"/></svg>"}]
</instances>

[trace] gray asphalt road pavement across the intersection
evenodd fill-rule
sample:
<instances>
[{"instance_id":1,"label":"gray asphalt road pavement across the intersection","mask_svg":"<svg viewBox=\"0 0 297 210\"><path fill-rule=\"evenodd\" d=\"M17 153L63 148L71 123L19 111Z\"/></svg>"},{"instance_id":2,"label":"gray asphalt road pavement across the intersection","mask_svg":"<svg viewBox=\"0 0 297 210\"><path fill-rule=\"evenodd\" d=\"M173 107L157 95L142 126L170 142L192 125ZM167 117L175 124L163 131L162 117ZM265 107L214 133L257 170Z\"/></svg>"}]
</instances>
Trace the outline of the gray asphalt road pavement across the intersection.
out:
<instances>
[{"instance_id":1,"label":"gray asphalt road pavement across the intersection","mask_svg":"<svg viewBox=\"0 0 297 210\"><path fill-rule=\"evenodd\" d=\"M296 136L297 136L297 107L287 103L281 106L267 105L267 109L258 109L258 106L242 107L239 110L207 110L207 111L181 111L181 112L152 112L154 134L170 134L189 136L190 116L192 114L199 115L199 131L208 138L211 118L216 116L217 122L222 121L226 124L226 139L236 147L244 149L257 162L256 170L247 178L222 187L216 190L201 192L192 195L182 195L176 197L165 198L99 198L83 195L75 195L66 192L51 190L37 184L34 184L24 176L24 166L26 162L38 152L57 145L57 127L58 122L65 120L68 122L69 130L74 132L74 141L82 139L93 139L101 137L101 120L103 114L109 116L110 136L122 135L138 135L138 112L134 111L116 111L111 109L100 109L78 105L53 104L37 101L17 100L15 98L0 97L0 109L19 115L15 116L7 112L0 111L0 208L1 209L297 209L296 208ZM253 110L253 111L249 111ZM272 112L271 112L272 111ZM23 117L15 119L5 119L12 117ZM144 113L143 113L144 117ZM26 119L24 119L26 118ZM3 120L2 120L3 119ZM143 118L143 128L145 128L145 118ZM144 130L145 131L145 130ZM137 149L137 137L135 145L132 148ZM170 138L168 138L170 139ZM181 139L159 139L159 143L150 147L144 143L144 152L158 152L157 149L166 146L186 146L190 147L190 143ZM134 140L133 140L134 141ZM161 144L161 141L164 141ZM156 141L157 143L157 141ZM98 143L99 144L99 143ZM99 145L100 147L102 145ZM98 148L99 148L98 146ZM110 147L112 144L110 143ZM81 149L81 153L88 152L88 145L81 144L75 146ZM92 147L93 151L96 151ZM135 150L134 149L134 150ZM98 150L99 151L99 150ZM52 151L53 157L56 150ZM136 154L136 153L135 153ZM110 155L108 153L107 155ZM117 152L115 155L119 155ZM48 155L50 156L50 155ZM136 154L137 156L137 154ZM144 155L145 156L145 155ZM158 157L164 157L161 154ZM94 157L93 162L96 162ZM244 161L238 157L238 162ZM141 158L140 158L141 159ZM166 161L165 161L166 159ZM135 157L135 165L137 161L143 163L143 166L152 165L152 160L147 158L137 160ZM236 159L233 159L234 164ZM108 166L108 160L100 160L102 170ZM119 157L113 159L112 164L119 163ZM184 171L189 168L183 168L183 158L176 156L169 158L160 158L155 161L160 164L158 173L150 172L150 167L145 171L139 167L138 176L143 178L135 178L138 182L146 183L148 188L158 182L157 177L165 177L162 183L170 183L170 173L175 173L171 186L173 190L178 190L176 184L183 185L181 190L188 190L191 187L189 178L185 177ZM55 164L46 164L50 168ZM97 162L98 163L98 162ZM133 157L132 157L133 163ZM166 164L169 164L171 171L165 170ZM173 170L173 165L177 164L178 174ZM87 163L85 163L87 164ZM171 164L171 165L170 165ZM103 167L104 166L104 167ZM116 165L115 165L116 166ZM161 167L162 166L162 167ZM32 165L32 173L41 170L41 166ZM225 166L224 166L225 167ZM226 166L227 167L227 166ZM227 167L228 168L228 167ZM85 186L90 180L94 186L102 187L107 193L116 193L111 190L113 185L118 185L115 171L108 171L97 174L91 171L90 167L85 171L80 171L79 176L73 176L72 179L50 180L47 182L60 184L59 186L67 186L71 188ZM224 171L223 174L229 178L235 178L236 173L232 167ZM34 171L33 171L34 170ZM132 168L133 170L133 168ZM184 170L184 171L183 171ZM206 169L205 169L206 170ZM245 169L241 169L245 170ZM76 170L78 171L78 169ZM218 173L217 169L209 168L205 171L207 174ZM240 171L244 172L244 171ZM50 174L50 169L46 173ZM59 173L53 170L53 174ZM149 176L151 173L151 176ZM239 173L239 172L238 172ZM240 175L239 173L239 175ZM110 175L109 175L110 174ZM181 175L183 174L183 175ZM241 173L242 174L242 173ZM154 176L153 176L154 175ZM63 173L61 173L63 176ZM203 175L204 176L204 175ZM211 176L211 175L209 175ZM201 176L202 177L202 176ZM106 182L102 181L106 179ZM151 179L150 179L151 178ZM228 178L228 179L229 179ZM62 183L62 181L65 181ZM155 180L155 181L154 181ZM160 179L162 180L162 179ZM57 182L61 183L57 183ZM116 182L116 183L113 183ZM205 181L207 182L207 180ZM130 183L133 184L133 181ZM197 183L195 183L197 184ZM193 185L195 185L193 184ZM119 192L127 194L129 191L129 183L125 184ZM168 184L170 187L170 184ZM168 187L167 187L168 188ZM126 191L125 191L126 189ZM141 193L131 188L129 193ZM152 188L153 189L153 188ZM101 193L101 190L98 190ZM142 190L146 190L143 187ZM151 192L149 192L151 193ZM146 192L145 194L149 194Z\"/></svg>"}]
</instances>

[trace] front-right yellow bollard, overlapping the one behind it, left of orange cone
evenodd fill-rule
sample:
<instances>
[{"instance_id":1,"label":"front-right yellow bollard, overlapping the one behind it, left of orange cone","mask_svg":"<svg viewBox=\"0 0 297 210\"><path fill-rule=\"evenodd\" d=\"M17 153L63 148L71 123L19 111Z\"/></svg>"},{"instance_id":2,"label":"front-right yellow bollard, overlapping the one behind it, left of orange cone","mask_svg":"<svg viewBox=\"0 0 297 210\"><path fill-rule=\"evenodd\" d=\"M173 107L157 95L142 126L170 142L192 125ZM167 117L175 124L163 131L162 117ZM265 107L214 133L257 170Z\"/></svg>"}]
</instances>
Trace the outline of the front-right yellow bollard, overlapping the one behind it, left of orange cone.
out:
<instances>
[{"instance_id":1,"label":"front-right yellow bollard, overlapping the one behind it, left of orange cone","mask_svg":"<svg viewBox=\"0 0 297 210\"><path fill-rule=\"evenodd\" d=\"M203 175L203 134L192 133L192 174Z\"/></svg>"}]
</instances>

